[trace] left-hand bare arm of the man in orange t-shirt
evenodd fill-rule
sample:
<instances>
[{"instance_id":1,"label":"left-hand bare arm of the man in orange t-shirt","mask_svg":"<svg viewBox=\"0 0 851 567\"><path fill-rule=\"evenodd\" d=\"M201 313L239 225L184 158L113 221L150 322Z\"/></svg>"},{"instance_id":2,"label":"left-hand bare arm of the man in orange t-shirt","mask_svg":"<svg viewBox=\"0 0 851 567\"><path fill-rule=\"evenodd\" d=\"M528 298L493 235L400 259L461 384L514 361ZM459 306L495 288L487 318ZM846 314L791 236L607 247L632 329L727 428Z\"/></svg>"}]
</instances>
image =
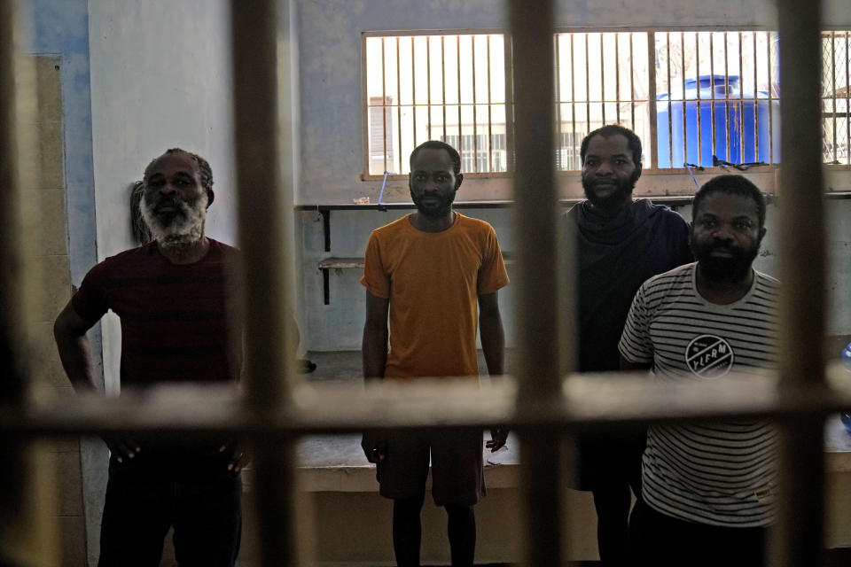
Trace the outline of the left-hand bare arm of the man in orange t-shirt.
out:
<instances>
[{"instance_id":1,"label":"left-hand bare arm of the man in orange t-shirt","mask_svg":"<svg viewBox=\"0 0 851 567\"><path fill-rule=\"evenodd\" d=\"M376 297L366 291L366 323L363 325L363 378L380 380L384 378L387 363L387 310L390 299ZM384 461L386 455L386 434L382 431L366 431L361 439L361 448L369 462Z\"/></svg>"}]
</instances>

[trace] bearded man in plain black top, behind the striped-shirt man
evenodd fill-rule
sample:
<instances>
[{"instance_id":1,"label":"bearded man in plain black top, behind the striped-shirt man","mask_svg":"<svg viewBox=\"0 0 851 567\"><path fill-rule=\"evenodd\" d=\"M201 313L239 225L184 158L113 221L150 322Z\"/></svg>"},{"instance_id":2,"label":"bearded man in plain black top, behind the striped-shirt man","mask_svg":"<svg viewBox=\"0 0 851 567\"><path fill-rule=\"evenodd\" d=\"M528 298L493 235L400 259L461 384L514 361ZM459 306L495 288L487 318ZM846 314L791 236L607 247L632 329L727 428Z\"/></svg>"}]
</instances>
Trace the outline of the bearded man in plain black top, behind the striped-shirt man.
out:
<instances>
[{"instance_id":1,"label":"bearded man in plain black top, behind the striped-shirt man","mask_svg":"<svg viewBox=\"0 0 851 567\"><path fill-rule=\"evenodd\" d=\"M609 125L582 140L587 200L566 214L579 268L579 371L620 369L618 341L636 291L651 276L691 261L689 228L667 206L633 200L641 140ZM644 431L577 439L577 487L594 494L597 546L605 566L628 561L629 488L640 493Z\"/></svg>"}]
</instances>

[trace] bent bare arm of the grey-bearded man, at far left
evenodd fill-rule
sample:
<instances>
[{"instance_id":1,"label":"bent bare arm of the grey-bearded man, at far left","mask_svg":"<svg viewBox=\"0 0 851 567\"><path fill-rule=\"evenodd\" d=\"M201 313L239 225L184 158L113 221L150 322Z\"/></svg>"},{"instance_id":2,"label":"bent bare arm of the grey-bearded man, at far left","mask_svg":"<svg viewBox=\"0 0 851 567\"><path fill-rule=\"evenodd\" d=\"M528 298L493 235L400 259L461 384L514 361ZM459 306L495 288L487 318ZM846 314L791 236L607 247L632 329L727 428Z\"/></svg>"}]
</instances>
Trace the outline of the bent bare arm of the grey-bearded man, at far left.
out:
<instances>
[{"instance_id":1,"label":"bent bare arm of the grey-bearded man, at far left","mask_svg":"<svg viewBox=\"0 0 851 567\"><path fill-rule=\"evenodd\" d=\"M59 360L74 390L92 392L98 389L91 362L91 348L86 331L94 322L86 321L69 301L53 323L53 338L59 348Z\"/></svg>"}]
</instances>

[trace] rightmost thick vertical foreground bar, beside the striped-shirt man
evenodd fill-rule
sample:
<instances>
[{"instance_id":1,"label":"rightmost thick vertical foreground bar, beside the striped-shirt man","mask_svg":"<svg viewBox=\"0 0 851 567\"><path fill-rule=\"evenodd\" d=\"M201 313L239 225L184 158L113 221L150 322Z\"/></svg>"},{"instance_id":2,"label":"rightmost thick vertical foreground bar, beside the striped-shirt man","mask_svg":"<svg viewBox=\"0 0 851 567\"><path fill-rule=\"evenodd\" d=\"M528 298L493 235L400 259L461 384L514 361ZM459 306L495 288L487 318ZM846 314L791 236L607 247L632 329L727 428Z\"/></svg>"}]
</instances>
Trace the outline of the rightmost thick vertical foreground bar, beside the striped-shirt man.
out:
<instances>
[{"instance_id":1,"label":"rightmost thick vertical foreground bar, beside the striped-shirt man","mask_svg":"<svg viewBox=\"0 0 851 567\"><path fill-rule=\"evenodd\" d=\"M821 152L821 3L777 0L780 35L780 304L781 396L824 386L824 205ZM801 222L806 219L806 222ZM822 564L824 417L782 422L779 547L769 564Z\"/></svg>"}]
</instances>

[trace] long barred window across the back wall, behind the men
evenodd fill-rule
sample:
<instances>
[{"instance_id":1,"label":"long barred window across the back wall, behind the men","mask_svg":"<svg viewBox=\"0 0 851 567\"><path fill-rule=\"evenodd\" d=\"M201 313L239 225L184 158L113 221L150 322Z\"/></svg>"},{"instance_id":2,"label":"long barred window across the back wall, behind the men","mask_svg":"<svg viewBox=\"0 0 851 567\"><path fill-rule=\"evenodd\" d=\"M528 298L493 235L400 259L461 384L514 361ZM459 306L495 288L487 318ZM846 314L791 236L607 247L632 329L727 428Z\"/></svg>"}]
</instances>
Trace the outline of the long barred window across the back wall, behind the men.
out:
<instances>
[{"instance_id":1,"label":"long barred window across the back wall, behind the men","mask_svg":"<svg viewBox=\"0 0 851 567\"><path fill-rule=\"evenodd\" d=\"M780 162L777 32L621 28L554 40L557 169L579 170L582 138L613 123L641 138L645 168ZM510 51L502 34L364 35L366 175L407 173L426 139L456 147L465 174L507 171ZM851 165L849 54L851 32L823 32L826 164Z\"/></svg>"}]
</instances>

